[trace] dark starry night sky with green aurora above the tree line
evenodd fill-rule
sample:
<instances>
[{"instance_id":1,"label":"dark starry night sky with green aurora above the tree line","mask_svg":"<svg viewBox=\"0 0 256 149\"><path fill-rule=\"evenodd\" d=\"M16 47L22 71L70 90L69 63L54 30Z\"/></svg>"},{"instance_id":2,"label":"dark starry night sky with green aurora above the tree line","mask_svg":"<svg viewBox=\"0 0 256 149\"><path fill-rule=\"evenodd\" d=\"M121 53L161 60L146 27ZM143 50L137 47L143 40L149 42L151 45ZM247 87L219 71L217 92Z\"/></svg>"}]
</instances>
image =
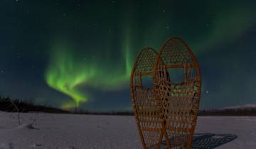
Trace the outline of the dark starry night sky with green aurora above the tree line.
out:
<instances>
[{"instance_id":1,"label":"dark starry night sky with green aurora above the tree line","mask_svg":"<svg viewBox=\"0 0 256 149\"><path fill-rule=\"evenodd\" d=\"M0 18L1 96L132 109L137 54L179 36L201 66L201 109L256 104L254 0L1 0Z\"/></svg>"}]
</instances>

